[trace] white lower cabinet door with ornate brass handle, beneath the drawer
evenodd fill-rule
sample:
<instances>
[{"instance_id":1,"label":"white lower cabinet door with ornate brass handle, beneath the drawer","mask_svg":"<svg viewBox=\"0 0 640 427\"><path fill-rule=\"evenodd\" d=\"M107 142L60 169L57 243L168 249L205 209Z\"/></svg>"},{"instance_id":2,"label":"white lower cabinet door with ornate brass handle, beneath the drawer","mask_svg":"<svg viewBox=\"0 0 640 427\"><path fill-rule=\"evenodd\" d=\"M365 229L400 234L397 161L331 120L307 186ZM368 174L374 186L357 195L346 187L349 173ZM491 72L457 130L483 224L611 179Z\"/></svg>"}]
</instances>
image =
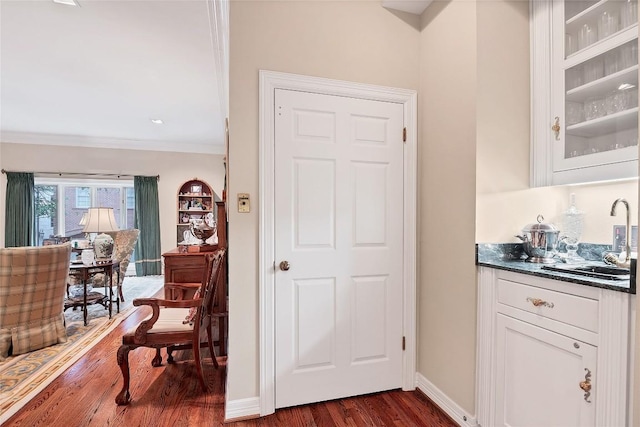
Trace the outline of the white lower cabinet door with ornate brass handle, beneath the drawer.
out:
<instances>
[{"instance_id":1,"label":"white lower cabinet door with ornate brass handle, beneath the drawer","mask_svg":"<svg viewBox=\"0 0 640 427\"><path fill-rule=\"evenodd\" d=\"M496 331L495 425L595 425L595 346L503 314Z\"/></svg>"}]
</instances>

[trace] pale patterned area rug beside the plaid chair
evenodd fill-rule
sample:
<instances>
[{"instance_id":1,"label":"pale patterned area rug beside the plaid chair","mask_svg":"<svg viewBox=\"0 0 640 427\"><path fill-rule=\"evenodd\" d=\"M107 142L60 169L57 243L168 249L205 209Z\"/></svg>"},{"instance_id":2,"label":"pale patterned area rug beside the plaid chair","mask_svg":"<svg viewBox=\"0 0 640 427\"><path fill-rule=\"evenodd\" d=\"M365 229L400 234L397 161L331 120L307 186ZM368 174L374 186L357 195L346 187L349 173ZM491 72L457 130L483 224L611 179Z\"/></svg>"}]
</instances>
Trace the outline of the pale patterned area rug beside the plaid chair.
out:
<instances>
[{"instance_id":1,"label":"pale patterned area rug beside the plaid chair","mask_svg":"<svg viewBox=\"0 0 640 427\"><path fill-rule=\"evenodd\" d=\"M82 357L105 335L133 312L134 298L151 297L164 284L163 276L125 277L122 291L125 301L120 313L109 319L100 304L88 307L89 323L84 326L81 309L65 311L67 342L9 357L0 363L0 424L9 419L58 375ZM100 289L96 289L100 290Z\"/></svg>"}]
</instances>

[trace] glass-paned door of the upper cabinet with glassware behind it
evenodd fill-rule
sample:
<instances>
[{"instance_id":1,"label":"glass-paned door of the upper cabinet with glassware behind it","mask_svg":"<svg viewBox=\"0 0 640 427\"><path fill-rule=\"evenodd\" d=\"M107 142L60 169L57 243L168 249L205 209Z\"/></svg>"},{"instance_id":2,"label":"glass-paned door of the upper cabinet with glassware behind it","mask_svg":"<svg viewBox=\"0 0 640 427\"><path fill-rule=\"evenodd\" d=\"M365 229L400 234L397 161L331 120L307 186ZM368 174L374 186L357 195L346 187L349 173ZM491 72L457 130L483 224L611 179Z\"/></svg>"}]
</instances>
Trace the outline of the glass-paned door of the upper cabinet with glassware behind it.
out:
<instances>
[{"instance_id":1,"label":"glass-paned door of the upper cabinet with glassware behind it","mask_svg":"<svg viewBox=\"0 0 640 427\"><path fill-rule=\"evenodd\" d=\"M637 7L554 1L554 172L637 160Z\"/></svg>"}]
</instances>

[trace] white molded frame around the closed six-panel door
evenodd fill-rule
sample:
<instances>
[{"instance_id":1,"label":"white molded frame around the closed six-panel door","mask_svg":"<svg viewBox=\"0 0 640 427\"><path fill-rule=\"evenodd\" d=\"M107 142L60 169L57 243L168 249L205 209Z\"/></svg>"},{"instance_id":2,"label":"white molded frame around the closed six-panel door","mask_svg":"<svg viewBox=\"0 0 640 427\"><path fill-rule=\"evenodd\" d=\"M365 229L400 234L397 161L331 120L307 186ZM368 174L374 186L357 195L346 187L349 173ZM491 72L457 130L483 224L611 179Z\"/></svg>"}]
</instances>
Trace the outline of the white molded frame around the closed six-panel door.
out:
<instances>
[{"instance_id":1,"label":"white molded frame around the closed six-panel door","mask_svg":"<svg viewBox=\"0 0 640 427\"><path fill-rule=\"evenodd\" d=\"M407 138L404 147L403 313L405 351L402 389L416 386L416 216L417 216L417 93L361 83L260 70L259 101L259 331L260 415L275 412L275 90L289 89L403 104ZM398 343L400 345L400 343Z\"/></svg>"}]
</instances>

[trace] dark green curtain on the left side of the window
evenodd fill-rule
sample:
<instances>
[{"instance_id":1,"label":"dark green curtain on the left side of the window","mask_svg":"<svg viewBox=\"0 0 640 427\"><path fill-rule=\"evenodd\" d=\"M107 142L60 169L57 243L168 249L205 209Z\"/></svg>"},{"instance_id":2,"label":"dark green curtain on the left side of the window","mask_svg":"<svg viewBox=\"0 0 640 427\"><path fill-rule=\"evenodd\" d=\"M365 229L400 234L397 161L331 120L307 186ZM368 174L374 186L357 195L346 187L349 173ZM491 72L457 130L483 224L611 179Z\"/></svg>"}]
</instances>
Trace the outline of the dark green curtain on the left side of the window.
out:
<instances>
[{"instance_id":1,"label":"dark green curtain on the left side of the window","mask_svg":"<svg viewBox=\"0 0 640 427\"><path fill-rule=\"evenodd\" d=\"M4 245L7 248L35 244L33 174L7 172Z\"/></svg>"}]
</instances>

